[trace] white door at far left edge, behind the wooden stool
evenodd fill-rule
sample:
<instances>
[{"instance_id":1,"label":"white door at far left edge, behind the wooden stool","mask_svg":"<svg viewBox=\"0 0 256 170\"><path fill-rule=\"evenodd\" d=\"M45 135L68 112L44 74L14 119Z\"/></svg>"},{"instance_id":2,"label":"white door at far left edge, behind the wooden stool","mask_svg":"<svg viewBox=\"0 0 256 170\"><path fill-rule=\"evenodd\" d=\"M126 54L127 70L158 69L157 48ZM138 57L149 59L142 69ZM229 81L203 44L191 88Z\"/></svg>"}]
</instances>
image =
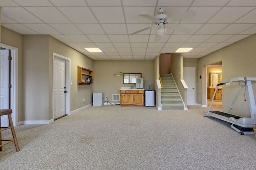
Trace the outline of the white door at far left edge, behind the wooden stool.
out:
<instances>
[{"instance_id":1,"label":"white door at far left edge, behind the wooden stool","mask_svg":"<svg viewBox=\"0 0 256 170\"><path fill-rule=\"evenodd\" d=\"M10 60L8 60L9 49L1 49L1 109L10 109L10 90L8 84L10 84ZM8 116L1 116L2 127L9 126Z\"/></svg>"}]
</instances>

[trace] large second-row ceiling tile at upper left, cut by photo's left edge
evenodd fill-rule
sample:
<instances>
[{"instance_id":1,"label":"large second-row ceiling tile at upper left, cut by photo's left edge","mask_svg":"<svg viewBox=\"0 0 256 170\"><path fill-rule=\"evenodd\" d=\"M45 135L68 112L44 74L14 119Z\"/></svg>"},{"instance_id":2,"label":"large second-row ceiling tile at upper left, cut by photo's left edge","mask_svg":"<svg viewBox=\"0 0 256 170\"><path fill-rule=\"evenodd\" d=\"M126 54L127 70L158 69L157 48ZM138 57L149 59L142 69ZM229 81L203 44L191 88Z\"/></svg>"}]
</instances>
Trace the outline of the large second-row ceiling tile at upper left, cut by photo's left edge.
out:
<instances>
[{"instance_id":1,"label":"large second-row ceiling tile at upper left, cut by photo's left edge","mask_svg":"<svg viewBox=\"0 0 256 170\"><path fill-rule=\"evenodd\" d=\"M44 24L42 20L22 7L3 7L1 13L20 24Z\"/></svg>"}]
</instances>

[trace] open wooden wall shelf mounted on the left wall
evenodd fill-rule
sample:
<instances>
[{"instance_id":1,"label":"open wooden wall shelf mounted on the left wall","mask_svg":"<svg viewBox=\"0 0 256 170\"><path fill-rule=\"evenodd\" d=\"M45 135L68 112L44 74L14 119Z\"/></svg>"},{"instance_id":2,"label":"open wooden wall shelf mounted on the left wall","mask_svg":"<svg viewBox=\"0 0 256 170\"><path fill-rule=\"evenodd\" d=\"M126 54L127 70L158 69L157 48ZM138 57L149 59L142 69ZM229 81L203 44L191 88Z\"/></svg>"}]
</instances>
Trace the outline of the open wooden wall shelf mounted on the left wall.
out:
<instances>
[{"instance_id":1,"label":"open wooden wall shelf mounted on the left wall","mask_svg":"<svg viewBox=\"0 0 256 170\"><path fill-rule=\"evenodd\" d=\"M90 78L91 81L86 82ZM90 85L92 84L92 70L77 66L77 85Z\"/></svg>"}]
</instances>

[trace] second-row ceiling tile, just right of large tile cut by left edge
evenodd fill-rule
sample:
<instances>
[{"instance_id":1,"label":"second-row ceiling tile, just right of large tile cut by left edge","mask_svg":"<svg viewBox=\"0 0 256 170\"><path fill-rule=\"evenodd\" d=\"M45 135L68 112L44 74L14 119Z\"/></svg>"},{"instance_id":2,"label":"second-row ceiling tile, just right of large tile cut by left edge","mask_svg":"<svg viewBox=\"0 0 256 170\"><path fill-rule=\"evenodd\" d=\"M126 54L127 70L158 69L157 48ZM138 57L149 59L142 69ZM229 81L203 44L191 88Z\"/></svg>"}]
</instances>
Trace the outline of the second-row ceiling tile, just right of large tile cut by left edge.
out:
<instances>
[{"instance_id":1,"label":"second-row ceiling tile, just right of large tile cut by left edge","mask_svg":"<svg viewBox=\"0 0 256 170\"><path fill-rule=\"evenodd\" d=\"M47 24L70 23L68 18L66 18L56 7L26 7L25 9L33 13Z\"/></svg>"}]
</instances>

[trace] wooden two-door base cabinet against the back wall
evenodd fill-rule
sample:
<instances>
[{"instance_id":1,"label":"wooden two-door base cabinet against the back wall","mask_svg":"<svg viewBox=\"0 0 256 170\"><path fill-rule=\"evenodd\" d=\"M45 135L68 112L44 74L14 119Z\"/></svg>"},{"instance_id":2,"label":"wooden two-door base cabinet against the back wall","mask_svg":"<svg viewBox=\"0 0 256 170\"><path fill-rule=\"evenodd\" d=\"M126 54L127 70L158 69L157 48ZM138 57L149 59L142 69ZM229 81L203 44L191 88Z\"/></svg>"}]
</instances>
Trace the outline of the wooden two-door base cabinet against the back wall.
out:
<instances>
[{"instance_id":1,"label":"wooden two-door base cabinet against the back wall","mask_svg":"<svg viewBox=\"0 0 256 170\"><path fill-rule=\"evenodd\" d=\"M121 106L144 106L144 90L120 90Z\"/></svg>"}]
</instances>

